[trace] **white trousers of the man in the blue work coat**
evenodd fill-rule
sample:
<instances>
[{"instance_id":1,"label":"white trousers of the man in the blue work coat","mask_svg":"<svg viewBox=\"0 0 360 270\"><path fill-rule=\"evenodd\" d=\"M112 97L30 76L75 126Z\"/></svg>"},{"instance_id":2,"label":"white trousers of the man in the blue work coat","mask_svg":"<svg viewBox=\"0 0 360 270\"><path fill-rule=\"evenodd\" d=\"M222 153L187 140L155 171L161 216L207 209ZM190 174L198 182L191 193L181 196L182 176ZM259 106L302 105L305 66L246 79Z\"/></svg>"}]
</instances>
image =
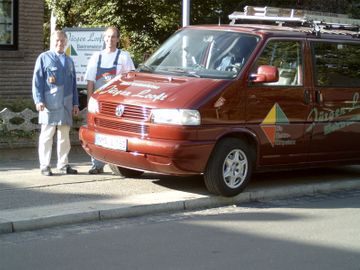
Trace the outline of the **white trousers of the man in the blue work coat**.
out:
<instances>
[{"instance_id":1,"label":"white trousers of the man in the blue work coat","mask_svg":"<svg viewBox=\"0 0 360 270\"><path fill-rule=\"evenodd\" d=\"M39 136L39 160L40 169L50 167L51 151L53 146L53 138L57 130L57 165L58 169L68 164L68 155L70 152L70 126L61 125L41 125L41 133Z\"/></svg>"}]
</instances>

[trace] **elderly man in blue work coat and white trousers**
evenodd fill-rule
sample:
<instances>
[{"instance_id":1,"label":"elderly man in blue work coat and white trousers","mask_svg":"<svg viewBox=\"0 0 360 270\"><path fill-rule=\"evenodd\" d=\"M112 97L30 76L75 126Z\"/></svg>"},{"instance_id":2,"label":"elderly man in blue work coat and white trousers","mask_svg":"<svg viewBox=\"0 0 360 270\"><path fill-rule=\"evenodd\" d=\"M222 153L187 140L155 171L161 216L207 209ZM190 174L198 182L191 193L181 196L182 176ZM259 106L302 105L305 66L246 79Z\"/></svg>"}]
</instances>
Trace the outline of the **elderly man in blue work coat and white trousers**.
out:
<instances>
[{"instance_id":1,"label":"elderly man in blue work coat and white trousers","mask_svg":"<svg viewBox=\"0 0 360 270\"><path fill-rule=\"evenodd\" d=\"M55 31L53 48L41 53L36 60L32 94L39 112L41 133L39 137L39 160L41 174L51 176L50 168L53 137L57 131L57 168L63 174L76 174L68 164L70 152L70 127L72 116L79 113L75 66L65 55L67 36Z\"/></svg>"}]
</instances>

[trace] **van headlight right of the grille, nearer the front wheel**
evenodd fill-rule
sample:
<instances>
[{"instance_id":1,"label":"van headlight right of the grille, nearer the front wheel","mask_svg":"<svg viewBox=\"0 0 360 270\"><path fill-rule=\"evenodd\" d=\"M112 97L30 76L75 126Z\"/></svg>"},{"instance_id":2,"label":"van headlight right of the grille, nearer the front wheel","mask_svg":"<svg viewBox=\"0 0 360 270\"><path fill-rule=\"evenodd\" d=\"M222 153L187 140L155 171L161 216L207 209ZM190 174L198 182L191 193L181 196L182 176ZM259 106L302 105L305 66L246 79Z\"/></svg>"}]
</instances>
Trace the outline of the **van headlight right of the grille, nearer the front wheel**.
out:
<instances>
[{"instance_id":1,"label":"van headlight right of the grille, nearer the front wheel","mask_svg":"<svg viewBox=\"0 0 360 270\"><path fill-rule=\"evenodd\" d=\"M198 126L201 117L197 110L153 109L151 121L156 124Z\"/></svg>"}]
</instances>

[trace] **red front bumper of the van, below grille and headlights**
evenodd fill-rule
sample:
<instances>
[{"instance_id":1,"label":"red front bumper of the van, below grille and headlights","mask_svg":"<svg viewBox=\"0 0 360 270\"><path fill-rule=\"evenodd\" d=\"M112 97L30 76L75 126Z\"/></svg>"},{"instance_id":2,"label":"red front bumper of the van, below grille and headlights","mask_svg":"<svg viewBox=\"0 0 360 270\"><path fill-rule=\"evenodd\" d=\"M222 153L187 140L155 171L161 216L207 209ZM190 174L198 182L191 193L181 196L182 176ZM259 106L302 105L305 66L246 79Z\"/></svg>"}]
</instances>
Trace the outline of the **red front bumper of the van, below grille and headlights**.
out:
<instances>
[{"instance_id":1,"label":"red front bumper of the van, below grille and headlights","mask_svg":"<svg viewBox=\"0 0 360 270\"><path fill-rule=\"evenodd\" d=\"M95 132L82 126L79 138L94 158L124 168L169 175L202 174L213 150L212 141L151 140L126 137L127 151L95 145Z\"/></svg>"}]
</instances>

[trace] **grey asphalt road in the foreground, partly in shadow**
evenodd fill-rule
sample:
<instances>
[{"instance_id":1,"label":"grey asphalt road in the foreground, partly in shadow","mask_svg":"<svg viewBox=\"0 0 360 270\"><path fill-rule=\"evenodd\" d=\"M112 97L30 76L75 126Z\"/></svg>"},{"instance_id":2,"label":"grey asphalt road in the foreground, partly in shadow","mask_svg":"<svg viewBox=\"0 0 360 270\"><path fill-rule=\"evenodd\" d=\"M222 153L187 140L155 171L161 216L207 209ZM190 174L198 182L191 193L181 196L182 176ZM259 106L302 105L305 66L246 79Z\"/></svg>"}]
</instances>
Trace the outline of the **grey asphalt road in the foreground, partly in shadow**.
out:
<instances>
[{"instance_id":1,"label":"grey asphalt road in the foreground, partly in shadow","mask_svg":"<svg viewBox=\"0 0 360 270\"><path fill-rule=\"evenodd\" d=\"M360 269L360 190L0 235L1 269Z\"/></svg>"}]
</instances>

